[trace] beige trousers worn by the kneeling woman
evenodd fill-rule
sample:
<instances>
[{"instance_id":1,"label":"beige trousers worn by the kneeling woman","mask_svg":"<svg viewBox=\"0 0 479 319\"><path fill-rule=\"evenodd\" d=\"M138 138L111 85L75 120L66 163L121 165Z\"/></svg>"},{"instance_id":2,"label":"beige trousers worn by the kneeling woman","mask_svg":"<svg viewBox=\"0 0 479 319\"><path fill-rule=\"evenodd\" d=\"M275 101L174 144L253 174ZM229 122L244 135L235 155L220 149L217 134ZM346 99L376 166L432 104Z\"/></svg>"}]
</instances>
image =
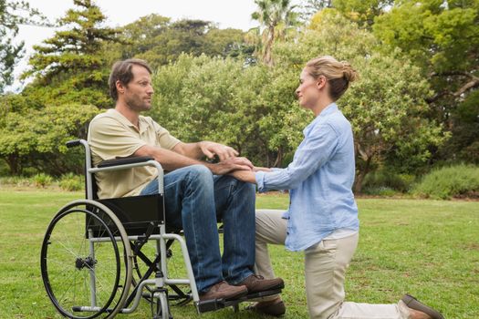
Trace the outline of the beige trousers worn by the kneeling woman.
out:
<instances>
[{"instance_id":1,"label":"beige trousers worn by the kneeling woman","mask_svg":"<svg viewBox=\"0 0 479 319\"><path fill-rule=\"evenodd\" d=\"M286 223L283 211L256 211L255 272L274 278L267 244L285 244ZM357 304L344 302L346 269L358 246L359 235L325 240L305 251L307 310L318 319L407 319L409 311L398 304Z\"/></svg>"}]
</instances>

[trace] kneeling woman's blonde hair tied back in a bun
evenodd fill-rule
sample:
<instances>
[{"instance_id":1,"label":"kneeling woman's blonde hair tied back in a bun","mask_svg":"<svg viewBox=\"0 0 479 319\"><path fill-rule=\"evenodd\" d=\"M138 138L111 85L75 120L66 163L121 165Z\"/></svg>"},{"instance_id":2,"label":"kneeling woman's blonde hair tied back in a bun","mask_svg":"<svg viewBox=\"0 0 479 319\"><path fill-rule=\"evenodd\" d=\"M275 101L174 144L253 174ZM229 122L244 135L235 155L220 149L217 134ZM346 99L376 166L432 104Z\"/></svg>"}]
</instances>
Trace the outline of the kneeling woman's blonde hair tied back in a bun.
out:
<instances>
[{"instance_id":1,"label":"kneeling woman's blonde hair tied back in a bun","mask_svg":"<svg viewBox=\"0 0 479 319\"><path fill-rule=\"evenodd\" d=\"M311 77L326 77L329 82L329 95L333 100L340 98L349 87L349 82L359 78L358 72L346 61L338 61L334 57L315 57L306 64Z\"/></svg>"}]
</instances>

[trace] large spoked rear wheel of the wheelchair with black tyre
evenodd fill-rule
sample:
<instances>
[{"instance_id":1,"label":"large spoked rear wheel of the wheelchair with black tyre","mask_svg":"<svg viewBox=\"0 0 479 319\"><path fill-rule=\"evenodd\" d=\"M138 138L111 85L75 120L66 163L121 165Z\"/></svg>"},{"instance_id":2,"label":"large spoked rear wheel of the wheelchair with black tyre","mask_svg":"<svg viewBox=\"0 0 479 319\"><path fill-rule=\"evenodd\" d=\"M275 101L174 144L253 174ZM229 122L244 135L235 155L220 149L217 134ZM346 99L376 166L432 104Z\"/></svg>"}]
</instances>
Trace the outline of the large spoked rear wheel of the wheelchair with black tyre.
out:
<instances>
[{"instance_id":1,"label":"large spoked rear wheel of the wheelchair with black tyre","mask_svg":"<svg viewBox=\"0 0 479 319\"><path fill-rule=\"evenodd\" d=\"M130 291L130 242L106 206L73 201L48 225L40 267L48 297L60 314L110 318Z\"/></svg>"}]
</instances>

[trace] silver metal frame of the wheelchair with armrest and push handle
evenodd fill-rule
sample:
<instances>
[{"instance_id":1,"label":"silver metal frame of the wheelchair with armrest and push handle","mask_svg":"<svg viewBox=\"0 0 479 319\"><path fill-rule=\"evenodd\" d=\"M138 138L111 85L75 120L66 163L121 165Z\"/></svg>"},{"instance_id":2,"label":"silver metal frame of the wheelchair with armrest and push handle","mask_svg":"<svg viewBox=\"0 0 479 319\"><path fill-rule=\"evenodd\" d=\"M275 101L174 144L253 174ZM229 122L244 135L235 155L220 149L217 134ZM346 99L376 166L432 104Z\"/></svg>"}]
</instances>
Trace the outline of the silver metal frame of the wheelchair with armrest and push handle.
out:
<instances>
[{"instance_id":1,"label":"silver metal frame of the wheelchair with armrest and push handle","mask_svg":"<svg viewBox=\"0 0 479 319\"><path fill-rule=\"evenodd\" d=\"M95 200L95 196L93 193L93 190L94 190L93 174L96 174L101 171L125 170L125 169L131 169L135 167L141 167L141 166L153 166L158 170L158 179L157 179L158 189L159 189L159 195L161 195L162 197L164 195L164 190L163 190L163 170L161 168L161 164L157 162L156 160L145 159L141 162L136 162L136 163L129 163L129 164L120 163L120 165L94 168L91 166L91 153L89 149L89 144L86 140L79 139L79 140L69 141L67 145L68 145L68 148L71 148L71 147L78 146L80 144L85 149L85 160L86 160L85 161L85 179L86 179L87 199L80 200L80 201L72 201L58 212L57 216L51 222L47 230L47 234L44 239L44 242L42 245L42 252L41 252L42 277L44 279L44 284L47 288L47 294L50 297L53 304L56 306L57 311L60 312L60 314L71 317L71 318L77 318L77 317L78 318L90 318L90 317L93 318L93 317L101 316L101 314L105 315L105 318L110 318L110 317L113 317L115 314L130 314L134 312L137 309L138 305L140 304L141 298L144 296L143 290L147 286L151 286L152 287L151 303L153 303L154 300L157 299L156 302L159 305L158 307L159 311L157 314L153 314L153 318L169 319L169 318L172 318L172 315L170 314L168 294L167 294L166 287L168 285L186 284L190 286L190 289L191 289L190 298L193 299L193 303L195 304L198 313L200 313L200 308L199 308L200 298L199 298L198 291L196 289L196 283L193 276L193 268L190 262L190 256L188 254L186 242L184 241L181 235L177 233L166 232L166 226L164 222L164 201L162 200L162 198L161 198L161 204L163 205L163 210L161 211L161 213L163 214L163 216L162 216L161 222L159 224L154 225L154 228L159 229L160 232L132 236L132 235L126 235L125 229L122 227L121 223L120 225L118 225L115 212L109 210L107 205L104 205L100 201ZM66 213L68 214L68 210L70 210L70 208L73 207L73 209L76 209L77 205L85 205L86 207L90 206L90 207L94 207L96 209L102 210L104 211L104 213L106 212L106 215L108 215L109 219L111 219L111 222L117 222L117 227L119 228L120 235L113 236L111 233L109 235L108 233L105 233L104 236L96 237L94 232L92 232L91 230L86 230L87 232L86 236L88 237L88 242L89 242L89 257L88 258L77 257L74 262L77 262L76 267L78 270L82 268L87 268L87 271L89 272L90 304L78 304L77 306L71 307L72 309L70 311L70 309L62 309L62 305L61 305L62 301L58 299L63 298L63 296L58 298L55 295L55 293L52 292L52 288L50 286L51 278L48 276L48 273L47 273L48 272L47 249L48 249L48 245L51 243L50 229L55 227L58 219L61 219ZM96 221L96 222L101 224L101 221ZM151 229L148 230L147 232L152 232L153 230L152 226L153 225L151 225ZM123 292L121 293L120 302L113 309L111 308L103 309L99 305L97 305L97 296L96 296L97 282L96 282L96 273L95 273L96 271L95 243L110 242L112 241L112 239L114 239L114 241L116 242L120 242L120 241L124 241L125 238L128 239L128 242L124 243L125 245L124 250L126 255L124 259L127 264L125 276L127 279L125 280L125 283L123 284L124 286L122 287ZM131 252L129 245L130 245L130 242L145 243L147 241L156 242L155 246L156 246L157 258L155 259L155 262L156 261L159 261L159 262L157 262L156 264L152 264L150 266L150 268L156 267L157 269L155 278L144 279L144 280L141 279L140 283L137 283L137 286L135 287L134 291L130 294L130 284L131 284L131 277L132 277L131 263L134 257L134 252ZM168 265L167 265L167 258L168 258L167 241L177 241L180 243L180 247L182 251L182 259L184 262L184 267L185 267L185 271L187 275L186 278L170 278ZM151 272L151 269L149 269L149 271ZM118 279L117 279L117 283L118 283ZM130 305L130 307L124 307L125 304L130 304L131 302L132 304ZM107 305L109 305L109 303ZM85 313L90 312L93 314L91 316L89 316L89 314L86 314L86 316L83 316L83 314L81 314L83 312ZM78 316L77 316L77 313L78 313Z\"/></svg>"}]
</instances>

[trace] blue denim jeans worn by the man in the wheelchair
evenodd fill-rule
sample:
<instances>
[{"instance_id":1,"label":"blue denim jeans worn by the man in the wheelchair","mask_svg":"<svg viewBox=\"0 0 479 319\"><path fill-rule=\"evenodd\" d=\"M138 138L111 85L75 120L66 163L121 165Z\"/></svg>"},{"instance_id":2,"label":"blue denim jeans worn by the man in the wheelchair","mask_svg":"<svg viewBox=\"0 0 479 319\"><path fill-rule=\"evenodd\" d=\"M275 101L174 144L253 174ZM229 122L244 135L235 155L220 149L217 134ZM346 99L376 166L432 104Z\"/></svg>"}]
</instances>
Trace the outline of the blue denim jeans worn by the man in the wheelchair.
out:
<instances>
[{"instance_id":1,"label":"blue denim jeans worn by the man in the wheelchair","mask_svg":"<svg viewBox=\"0 0 479 319\"><path fill-rule=\"evenodd\" d=\"M141 195L158 192L152 180ZM182 229L198 292L226 280L236 284L253 274L255 265L255 187L231 176L213 175L203 165L164 176L165 218ZM220 253L217 221L224 224Z\"/></svg>"}]
</instances>

